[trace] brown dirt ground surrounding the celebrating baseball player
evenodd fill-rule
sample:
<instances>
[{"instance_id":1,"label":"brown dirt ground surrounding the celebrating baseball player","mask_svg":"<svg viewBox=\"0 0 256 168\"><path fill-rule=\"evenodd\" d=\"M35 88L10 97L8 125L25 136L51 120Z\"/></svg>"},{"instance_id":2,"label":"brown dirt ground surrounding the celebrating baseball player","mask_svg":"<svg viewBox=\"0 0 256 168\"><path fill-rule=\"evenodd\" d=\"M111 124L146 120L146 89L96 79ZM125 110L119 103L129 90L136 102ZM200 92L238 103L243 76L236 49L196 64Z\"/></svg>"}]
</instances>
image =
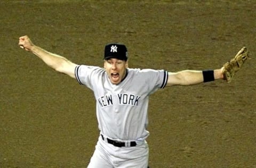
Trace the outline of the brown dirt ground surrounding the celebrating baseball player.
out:
<instances>
[{"instance_id":1,"label":"brown dirt ground surrounding the celebrating baseball player","mask_svg":"<svg viewBox=\"0 0 256 168\"><path fill-rule=\"evenodd\" d=\"M234 81L151 96L150 167L256 167L255 1L0 1L0 167L86 167L99 135L92 92L18 47L102 66L127 45L131 68L214 69L247 46Z\"/></svg>"}]
</instances>

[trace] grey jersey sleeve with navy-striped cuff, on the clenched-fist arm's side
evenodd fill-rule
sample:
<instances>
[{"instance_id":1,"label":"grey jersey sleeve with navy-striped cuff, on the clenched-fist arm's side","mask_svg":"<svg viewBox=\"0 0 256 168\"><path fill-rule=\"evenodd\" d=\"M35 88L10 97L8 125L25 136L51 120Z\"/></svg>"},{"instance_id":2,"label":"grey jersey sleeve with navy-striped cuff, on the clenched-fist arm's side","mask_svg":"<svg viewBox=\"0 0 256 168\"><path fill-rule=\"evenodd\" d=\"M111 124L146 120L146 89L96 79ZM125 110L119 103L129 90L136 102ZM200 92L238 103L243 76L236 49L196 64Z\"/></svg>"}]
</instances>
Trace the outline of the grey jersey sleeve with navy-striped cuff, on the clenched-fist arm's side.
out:
<instances>
[{"instance_id":1,"label":"grey jersey sleeve with navy-striped cuff, on the clenched-fist arm's side","mask_svg":"<svg viewBox=\"0 0 256 168\"><path fill-rule=\"evenodd\" d=\"M99 77L101 72L102 68L98 66L77 65L75 68L75 77L80 85L85 85L92 89L93 79Z\"/></svg>"}]
</instances>

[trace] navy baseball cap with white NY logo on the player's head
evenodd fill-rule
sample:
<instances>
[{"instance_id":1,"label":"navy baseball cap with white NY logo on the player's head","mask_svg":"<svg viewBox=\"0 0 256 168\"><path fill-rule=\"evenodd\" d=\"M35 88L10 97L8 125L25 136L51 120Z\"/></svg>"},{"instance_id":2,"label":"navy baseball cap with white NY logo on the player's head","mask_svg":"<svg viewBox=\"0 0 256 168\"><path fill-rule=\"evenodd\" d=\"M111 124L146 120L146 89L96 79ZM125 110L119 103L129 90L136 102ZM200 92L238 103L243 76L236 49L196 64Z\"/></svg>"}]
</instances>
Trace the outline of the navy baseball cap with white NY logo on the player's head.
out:
<instances>
[{"instance_id":1,"label":"navy baseball cap with white NY logo on the player's head","mask_svg":"<svg viewBox=\"0 0 256 168\"><path fill-rule=\"evenodd\" d=\"M104 59L117 58L118 60L128 60L127 48L123 44L111 43L105 46Z\"/></svg>"}]
</instances>

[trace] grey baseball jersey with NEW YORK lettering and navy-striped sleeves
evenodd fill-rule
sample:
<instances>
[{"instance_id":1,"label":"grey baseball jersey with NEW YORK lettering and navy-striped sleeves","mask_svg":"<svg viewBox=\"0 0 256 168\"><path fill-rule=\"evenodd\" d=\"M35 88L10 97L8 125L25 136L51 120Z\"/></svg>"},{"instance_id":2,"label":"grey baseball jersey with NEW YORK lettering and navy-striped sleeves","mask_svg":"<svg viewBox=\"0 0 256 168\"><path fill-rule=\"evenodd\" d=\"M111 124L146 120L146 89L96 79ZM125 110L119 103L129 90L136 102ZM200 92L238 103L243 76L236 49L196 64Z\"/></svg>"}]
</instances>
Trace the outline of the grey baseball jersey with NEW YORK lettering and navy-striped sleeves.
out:
<instances>
[{"instance_id":1,"label":"grey baseball jersey with NEW YORK lettering and navy-striped sleeves","mask_svg":"<svg viewBox=\"0 0 256 168\"><path fill-rule=\"evenodd\" d=\"M78 65L75 76L94 92L103 135L117 140L145 140L149 136L149 95L165 87L167 71L128 68L118 85L112 84L105 69L98 66Z\"/></svg>"}]
</instances>

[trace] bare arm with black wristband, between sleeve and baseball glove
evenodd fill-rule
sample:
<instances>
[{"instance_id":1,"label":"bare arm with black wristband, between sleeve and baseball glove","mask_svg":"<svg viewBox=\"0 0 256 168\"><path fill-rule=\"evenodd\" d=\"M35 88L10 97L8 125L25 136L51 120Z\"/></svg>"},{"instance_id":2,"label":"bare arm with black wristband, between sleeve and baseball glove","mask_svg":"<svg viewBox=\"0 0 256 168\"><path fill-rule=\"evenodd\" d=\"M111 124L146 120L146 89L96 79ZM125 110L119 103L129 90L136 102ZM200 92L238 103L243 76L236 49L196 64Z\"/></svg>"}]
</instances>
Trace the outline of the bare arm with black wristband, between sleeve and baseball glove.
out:
<instances>
[{"instance_id":1,"label":"bare arm with black wristband, between sleeve and baseball glove","mask_svg":"<svg viewBox=\"0 0 256 168\"><path fill-rule=\"evenodd\" d=\"M166 86L173 85L196 85L206 81L223 79L222 69L208 71L184 70L169 72Z\"/></svg>"}]
</instances>

